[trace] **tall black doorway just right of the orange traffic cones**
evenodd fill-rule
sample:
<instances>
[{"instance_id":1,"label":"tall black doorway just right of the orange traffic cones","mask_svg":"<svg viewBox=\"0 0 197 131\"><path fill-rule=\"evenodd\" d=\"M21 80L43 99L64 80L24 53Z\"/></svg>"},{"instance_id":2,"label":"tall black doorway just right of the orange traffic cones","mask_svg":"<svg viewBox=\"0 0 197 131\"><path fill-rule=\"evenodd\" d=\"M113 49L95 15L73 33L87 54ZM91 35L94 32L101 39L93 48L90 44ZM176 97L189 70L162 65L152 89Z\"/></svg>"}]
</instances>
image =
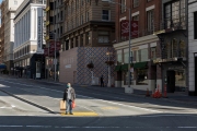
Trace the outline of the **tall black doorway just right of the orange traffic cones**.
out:
<instances>
[{"instance_id":1,"label":"tall black doorway just right of the orange traffic cones","mask_svg":"<svg viewBox=\"0 0 197 131\"><path fill-rule=\"evenodd\" d=\"M167 75L167 93L174 93L175 91L175 71L170 70L166 72Z\"/></svg>"}]
</instances>

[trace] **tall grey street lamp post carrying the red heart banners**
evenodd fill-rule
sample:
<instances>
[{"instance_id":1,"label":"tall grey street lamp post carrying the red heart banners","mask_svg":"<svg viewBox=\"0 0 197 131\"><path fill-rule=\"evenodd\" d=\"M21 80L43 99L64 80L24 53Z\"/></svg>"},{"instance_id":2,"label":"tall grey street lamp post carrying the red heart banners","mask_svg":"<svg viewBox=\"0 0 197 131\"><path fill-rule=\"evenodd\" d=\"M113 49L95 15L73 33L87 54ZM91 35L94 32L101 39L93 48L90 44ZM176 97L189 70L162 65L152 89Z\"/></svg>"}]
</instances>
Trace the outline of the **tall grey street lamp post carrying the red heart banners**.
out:
<instances>
[{"instance_id":1,"label":"tall grey street lamp post carrying the red heart banners","mask_svg":"<svg viewBox=\"0 0 197 131\"><path fill-rule=\"evenodd\" d=\"M120 7L124 7L125 9L127 9L128 11L129 11L129 64L128 64L128 75L129 75L129 78L128 78L128 88L125 88L125 93L134 93L134 88L130 86L130 78L131 78L131 75L130 75L130 63L132 63L132 58L131 58L131 56L130 56L130 45L131 45L131 38L130 38L130 35L131 35L131 26L130 26L130 24L131 24L131 22L130 22L130 14L131 14L131 9L130 8L127 8L125 4L121 4L121 3L118 3L118 2L114 2L114 1L112 1L112 0L109 0L108 2L111 2L111 3L114 3L114 4L118 4L118 5L120 5Z\"/></svg>"}]
</instances>

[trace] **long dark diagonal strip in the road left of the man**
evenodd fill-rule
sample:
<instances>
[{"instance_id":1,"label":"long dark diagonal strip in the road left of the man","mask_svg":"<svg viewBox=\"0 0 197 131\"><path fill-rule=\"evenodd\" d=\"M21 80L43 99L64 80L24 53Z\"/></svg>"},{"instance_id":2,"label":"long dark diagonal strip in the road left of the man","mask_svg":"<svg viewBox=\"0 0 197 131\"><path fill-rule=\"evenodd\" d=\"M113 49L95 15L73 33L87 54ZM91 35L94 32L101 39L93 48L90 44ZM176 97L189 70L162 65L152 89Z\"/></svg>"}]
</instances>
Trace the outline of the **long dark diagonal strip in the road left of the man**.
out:
<instances>
[{"instance_id":1,"label":"long dark diagonal strip in the road left of the man","mask_svg":"<svg viewBox=\"0 0 197 131\"><path fill-rule=\"evenodd\" d=\"M10 95L10 96L12 96L12 97L14 97L14 98L18 98L18 99L20 99L20 100L22 100L22 102L25 102L25 103L27 103L27 104L30 104L30 105L33 105L33 106L35 106L35 107L38 107L38 108L40 108L40 109L43 109L43 110L49 111L49 112L51 112L51 114L56 114L55 111L53 111L51 109L49 109L49 108L47 108L47 107L40 106L40 105L35 104L35 103L33 103L33 102L30 102L30 100L27 100L27 99L25 99L25 98L22 98L22 97L19 97L19 96L16 96L16 95L13 95L12 93L9 93L9 92L7 92L7 91L3 91L3 90L0 90L0 91L3 92L3 93L5 93L5 94L8 94L8 95Z\"/></svg>"}]
</instances>

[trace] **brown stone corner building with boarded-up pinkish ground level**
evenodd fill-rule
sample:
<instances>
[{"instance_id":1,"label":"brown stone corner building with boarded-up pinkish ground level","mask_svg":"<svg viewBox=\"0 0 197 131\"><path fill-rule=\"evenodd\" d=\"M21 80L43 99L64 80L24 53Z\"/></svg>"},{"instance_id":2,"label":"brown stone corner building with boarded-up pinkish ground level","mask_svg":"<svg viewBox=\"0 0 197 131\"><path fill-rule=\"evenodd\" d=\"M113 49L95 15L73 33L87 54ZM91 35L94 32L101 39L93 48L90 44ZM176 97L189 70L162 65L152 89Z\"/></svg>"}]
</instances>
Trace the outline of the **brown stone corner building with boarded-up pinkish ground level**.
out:
<instances>
[{"instance_id":1,"label":"brown stone corner building with boarded-up pinkish ground level","mask_svg":"<svg viewBox=\"0 0 197 131\"><path fill-rule=\"evenodd\" d=\"M103 74L107 84L107 59L115 60L115 5L107 0L65 0L65 31L61 35L60 82L90 84L91 70L94 76ZM106 52L111 51L112 56ZM111 76L114 78L114 66Z\"/></svg>"}]
</instances>

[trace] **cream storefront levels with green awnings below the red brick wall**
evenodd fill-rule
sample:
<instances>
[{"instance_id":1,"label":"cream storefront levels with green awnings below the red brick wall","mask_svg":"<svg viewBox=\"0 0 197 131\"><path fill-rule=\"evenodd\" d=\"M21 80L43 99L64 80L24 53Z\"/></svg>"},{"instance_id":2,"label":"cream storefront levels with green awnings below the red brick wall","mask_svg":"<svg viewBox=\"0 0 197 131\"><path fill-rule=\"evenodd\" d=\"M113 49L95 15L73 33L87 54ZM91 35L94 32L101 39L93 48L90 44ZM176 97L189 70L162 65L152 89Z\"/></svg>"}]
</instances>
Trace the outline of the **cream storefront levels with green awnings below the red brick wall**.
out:
<instances>
[{"instance_id":1,"label":"cream storefront levels with green awnings below the red brick wall","mask_svg":"<svg viewBox=\"0 0 197 131\"><path fill-rule=\"evenodd\" d=\"M135 90L154 91L157 85L157 66L152 60L157 58L157 48L159 40L157 36L150 35L132 40L130 56L132 61L129 63L129 49L127 41L115 44L117 63L116 71L116 87L128 87L129 73L131 74L130 83ZM140 44L139 44L140 41ZM150 43L147 43L150 41Z\"/></svg>"}]
</instances>

